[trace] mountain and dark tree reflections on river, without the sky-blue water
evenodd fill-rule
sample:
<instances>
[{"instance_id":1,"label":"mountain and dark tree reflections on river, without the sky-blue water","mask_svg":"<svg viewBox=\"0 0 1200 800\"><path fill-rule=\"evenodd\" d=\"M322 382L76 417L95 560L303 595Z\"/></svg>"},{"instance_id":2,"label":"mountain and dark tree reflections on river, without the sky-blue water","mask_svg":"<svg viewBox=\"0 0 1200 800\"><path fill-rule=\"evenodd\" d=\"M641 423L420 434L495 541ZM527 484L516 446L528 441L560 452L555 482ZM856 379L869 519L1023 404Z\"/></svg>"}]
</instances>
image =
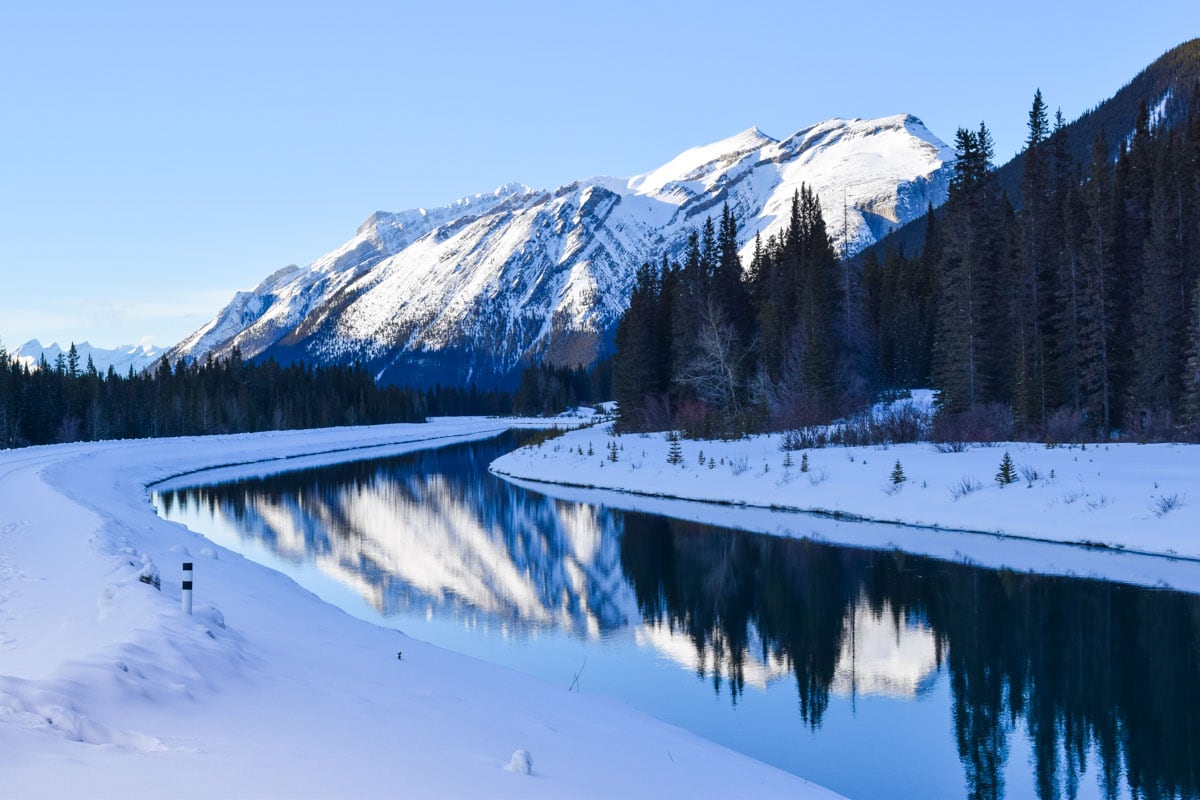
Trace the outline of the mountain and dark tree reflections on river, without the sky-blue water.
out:
<instances>
[{"instance_id":1,"label":"mountain and dark tree reflections on river, without the sky-blue water","mask_svg":"<svg viewBox=\"0 0 1200 800\"><path fill-rule=\"evenodd\" d=\"M814 732L832 696L916 702L947 674L972 798L1006 796L1014 768L1045 799L1200 795L1200 597L552 500L487 475L511 446L157 501L167 517L208 509L233 521L383 615L424 610L517 637L631 634L734 704L748 686L793 681L794 712ZM1014 736L1027 768L1009 764Z\"/></svg>"}]
</instances>

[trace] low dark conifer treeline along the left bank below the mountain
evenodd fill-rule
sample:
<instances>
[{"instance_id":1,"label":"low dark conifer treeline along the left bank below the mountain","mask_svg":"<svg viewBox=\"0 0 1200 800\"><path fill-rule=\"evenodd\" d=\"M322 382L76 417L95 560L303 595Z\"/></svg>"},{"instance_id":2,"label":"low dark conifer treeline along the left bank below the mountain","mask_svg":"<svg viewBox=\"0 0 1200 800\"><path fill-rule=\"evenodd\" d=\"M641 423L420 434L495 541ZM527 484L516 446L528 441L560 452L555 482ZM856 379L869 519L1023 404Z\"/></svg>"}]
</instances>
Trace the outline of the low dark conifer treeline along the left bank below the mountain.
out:
<instances>
[{"instance_id":1,"label":"low dark conifer treeline along the left bank below the mountain","mask_svg":"<svg viewBox=\"0 0 1200 800\"><path fill-rule=\"evenodd\" d=\"M508 413L475 389L377 386L359 367L250 363L235 350L204 363L166 360L137 374L80 365L72 344L30 369L0 349L0 447L61 441L418 422L427 414Z\"/></svg>"}]
</instances>

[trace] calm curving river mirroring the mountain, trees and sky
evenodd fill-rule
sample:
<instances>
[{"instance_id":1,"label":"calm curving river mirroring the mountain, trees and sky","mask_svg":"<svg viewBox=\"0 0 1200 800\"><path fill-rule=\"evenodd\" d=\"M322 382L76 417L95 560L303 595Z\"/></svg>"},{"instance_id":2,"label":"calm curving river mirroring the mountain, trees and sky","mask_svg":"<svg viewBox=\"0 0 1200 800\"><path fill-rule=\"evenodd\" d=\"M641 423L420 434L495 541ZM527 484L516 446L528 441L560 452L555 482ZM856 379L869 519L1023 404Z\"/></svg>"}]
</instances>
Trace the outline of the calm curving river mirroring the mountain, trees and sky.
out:
<instances>
[{"instance_id":1,"label":"calm curving river mirroring the mountain, trees and sky","mask_svg":"<svg viewBox=\"0 0 1200 800\"><path fill-rule=\"evenodd\" d=\"M851 798L1200 796L1196 595L553 500L488 475L515 435L155 501L352 614Z\"/></svg>"}]
</instances>

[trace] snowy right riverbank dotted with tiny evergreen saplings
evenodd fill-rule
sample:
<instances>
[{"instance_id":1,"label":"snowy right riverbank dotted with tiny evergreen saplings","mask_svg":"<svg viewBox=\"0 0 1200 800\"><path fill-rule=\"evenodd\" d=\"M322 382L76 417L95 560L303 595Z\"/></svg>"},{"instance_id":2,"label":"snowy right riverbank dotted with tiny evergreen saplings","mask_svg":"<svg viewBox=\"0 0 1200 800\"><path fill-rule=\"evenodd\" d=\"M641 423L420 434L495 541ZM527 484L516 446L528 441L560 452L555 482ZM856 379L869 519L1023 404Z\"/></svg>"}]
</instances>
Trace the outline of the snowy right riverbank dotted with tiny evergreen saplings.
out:
<instances>
[{"instance_id":1,"label":"snowy right riverbank dotted with tiny evergreen saplings","mask_svg":"<svg viewBox=\"0 0 1200 800\"><path fill-rule=\"evenodd\" d=\"M492 471L556 497L748 530L1200 591L1200 446L827 447L792 452L788 465L781 441L683 440L671 464L666 434L614 437L605 425L517 450ZM1006 452L1016 480L1002 486Z\"/></svg>"}]
</instances>

